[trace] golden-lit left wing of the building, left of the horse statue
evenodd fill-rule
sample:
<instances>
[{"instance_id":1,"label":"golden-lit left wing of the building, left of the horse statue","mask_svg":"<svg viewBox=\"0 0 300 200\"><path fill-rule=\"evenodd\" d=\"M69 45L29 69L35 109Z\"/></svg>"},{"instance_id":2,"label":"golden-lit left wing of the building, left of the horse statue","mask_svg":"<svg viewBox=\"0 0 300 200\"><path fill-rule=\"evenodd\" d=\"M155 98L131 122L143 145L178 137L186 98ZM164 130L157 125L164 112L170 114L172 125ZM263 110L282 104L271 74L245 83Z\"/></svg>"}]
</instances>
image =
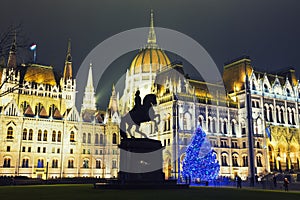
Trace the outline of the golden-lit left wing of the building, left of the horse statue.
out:
<instances>
[{"instance_id":1,"label":"golden-lit left wing of the building, left of the horse statue","mask_svg":"<svg viewBox=\"0 0 300 200\"><path fill-rule=\"evenodd\" d=\"M52 66L17 66L13 44L0 78L0 176L117 176L119 129L113 119L118 116L110 115L115 94L110 112L96 110L90 67L77 111L70 42L62 77Z\"/></svg>"}]
</instances>

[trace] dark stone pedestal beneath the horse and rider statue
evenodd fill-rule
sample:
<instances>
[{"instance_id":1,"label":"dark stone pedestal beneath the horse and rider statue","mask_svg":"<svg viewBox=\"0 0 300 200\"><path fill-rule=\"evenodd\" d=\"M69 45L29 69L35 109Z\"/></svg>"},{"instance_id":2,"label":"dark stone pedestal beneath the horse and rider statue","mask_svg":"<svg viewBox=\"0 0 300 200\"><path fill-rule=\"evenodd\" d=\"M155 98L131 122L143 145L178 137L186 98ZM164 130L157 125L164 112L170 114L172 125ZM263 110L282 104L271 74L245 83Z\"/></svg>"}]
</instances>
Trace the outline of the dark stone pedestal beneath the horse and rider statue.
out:
<instances>
[{"instance_id":1,"label":"dark stone pedestal beneath the horse and rider statue","mask_svg":"<svg viewBox=\"0 0 300 200\"><path fill-rule=\"evenodd\" d=\"M148 138L122 140L119 181L121 184L162 184L161 142Z\"/></svg>"}]
</instances>

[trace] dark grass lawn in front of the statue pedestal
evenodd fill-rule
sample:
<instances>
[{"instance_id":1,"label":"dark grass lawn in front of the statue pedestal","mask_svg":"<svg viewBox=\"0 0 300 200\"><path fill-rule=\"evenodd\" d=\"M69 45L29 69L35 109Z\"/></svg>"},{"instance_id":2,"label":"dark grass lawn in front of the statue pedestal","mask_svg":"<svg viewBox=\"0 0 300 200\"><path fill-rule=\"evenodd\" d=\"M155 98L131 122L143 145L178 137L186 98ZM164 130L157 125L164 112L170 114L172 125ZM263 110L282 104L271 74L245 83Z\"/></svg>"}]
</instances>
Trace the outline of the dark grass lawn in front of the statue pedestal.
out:
<instances>
[{"instance_id":1,"label":"dark grass lawn in front of the statue pedestal","mask_svg":"<svg viewBox=\"0 0 300 200\"><path fill-rule=\"evenodd\" d=\"M300 193L289 191L271 191L235 188L191 187L181 190L102 190L94 189L93 185L41 185L41 186L2 186L0 187L0 199L30 199L30 200L57 200L57 199L88 199L88 200L296 200L300 199Z\"/></svg>"}]
</instances>

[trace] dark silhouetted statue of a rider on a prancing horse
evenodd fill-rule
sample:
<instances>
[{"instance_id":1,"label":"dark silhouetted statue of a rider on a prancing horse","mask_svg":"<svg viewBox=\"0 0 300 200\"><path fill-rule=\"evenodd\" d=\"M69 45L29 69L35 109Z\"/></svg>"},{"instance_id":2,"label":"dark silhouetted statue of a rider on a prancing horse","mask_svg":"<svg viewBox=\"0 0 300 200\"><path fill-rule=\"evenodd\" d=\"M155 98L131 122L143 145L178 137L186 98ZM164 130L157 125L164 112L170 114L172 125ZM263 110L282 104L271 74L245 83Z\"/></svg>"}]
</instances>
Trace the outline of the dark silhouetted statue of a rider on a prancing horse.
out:
<instances>
[{"instance_id":1,"label":"dark silhouetted statue of a rider on a prancing horse","mask_svg":"<svg viewBox=\"0 0 300 200\"><path fill-rule=\"evenodd\" d=\"M154 105L157 105L156 95L147 94L143 99L143 104L141 104L139 102L140 101L139 91L137 91L136 99L135 99L135 106L133 107L133 109L130 110L127 114L125 114L121 118L120 135L122 139L127 139L127 133L129 133L131 138L134 138L133 134L131 133L131 129L133 126L136 127L135 132L147 138L147 135L139 130L140 125L143 122L154 121L155 122L154 130L155 131L158 130L157 124L160 122L160 116L154 112L154 109L152 107ZM155 120L156 118L158 118L157 121Z\"/></svg>"}]
</instances>

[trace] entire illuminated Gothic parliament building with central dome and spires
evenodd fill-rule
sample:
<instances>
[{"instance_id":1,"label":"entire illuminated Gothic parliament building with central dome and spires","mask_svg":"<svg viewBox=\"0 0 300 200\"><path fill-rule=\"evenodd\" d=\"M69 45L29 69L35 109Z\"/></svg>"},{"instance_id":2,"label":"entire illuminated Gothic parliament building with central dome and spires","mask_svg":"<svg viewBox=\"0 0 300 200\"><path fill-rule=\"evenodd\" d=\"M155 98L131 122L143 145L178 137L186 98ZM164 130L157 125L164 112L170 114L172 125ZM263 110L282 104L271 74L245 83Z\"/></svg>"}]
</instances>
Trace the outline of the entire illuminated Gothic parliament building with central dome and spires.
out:
<instances>
[{"instance_id":1,"label":"entire illuminated Gothic parliament building with central dome and spires","mask_svg":"<svg viewBox=\"0 0 300 200\"><path fill-rule=\"evenodd\" d=\"M18 66L12 44L0 71L0 176L117 177L120 120L133 108L137 90L141 98L157 96L160 120L143 123L140 131L164 146L166 179L181 177L197 126L206 132L220 176L247 179L250 163L257 175L300 171L300 83L294 69L259 72L244 56L224 64L222 83L191 79L181 62L159 48L152 12L147 43L127 69L123 95L112 87L106 111L96 109L93 67L79 111L70 42L63 75L52 66Z\"/></svg>"}]
</instances>

